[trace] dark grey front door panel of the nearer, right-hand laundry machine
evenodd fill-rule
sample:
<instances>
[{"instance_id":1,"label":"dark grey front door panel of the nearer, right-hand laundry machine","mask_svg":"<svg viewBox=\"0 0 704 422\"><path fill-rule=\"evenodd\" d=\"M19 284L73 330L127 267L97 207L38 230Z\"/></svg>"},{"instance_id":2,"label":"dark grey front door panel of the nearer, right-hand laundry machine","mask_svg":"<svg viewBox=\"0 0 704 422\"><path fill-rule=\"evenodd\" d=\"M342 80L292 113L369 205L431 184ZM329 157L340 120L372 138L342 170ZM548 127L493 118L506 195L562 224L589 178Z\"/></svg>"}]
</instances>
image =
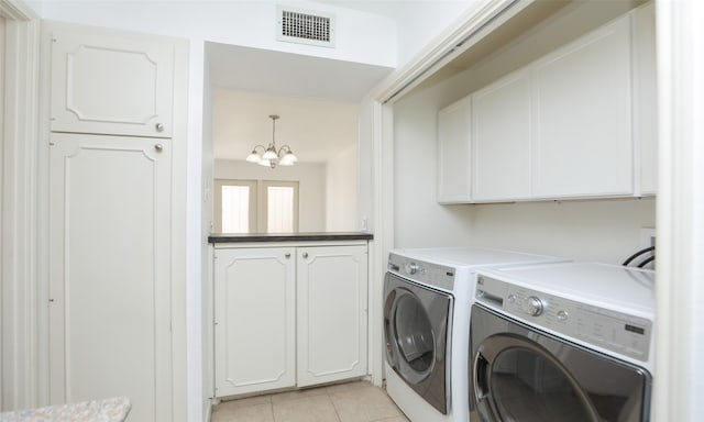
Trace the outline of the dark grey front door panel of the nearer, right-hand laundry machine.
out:
<instances>
[{"instance_id":1,"label":"dark grey front door panel of the nearer, right-hand laundry machine","mask_svg":"<svg viewBox=\"0 0 704 422\"><path fill-rule=\"evenodd\" d=\"M642 422L650 375L473 306L472 403L482 422Z\"/></svg>"}]
</instances>

